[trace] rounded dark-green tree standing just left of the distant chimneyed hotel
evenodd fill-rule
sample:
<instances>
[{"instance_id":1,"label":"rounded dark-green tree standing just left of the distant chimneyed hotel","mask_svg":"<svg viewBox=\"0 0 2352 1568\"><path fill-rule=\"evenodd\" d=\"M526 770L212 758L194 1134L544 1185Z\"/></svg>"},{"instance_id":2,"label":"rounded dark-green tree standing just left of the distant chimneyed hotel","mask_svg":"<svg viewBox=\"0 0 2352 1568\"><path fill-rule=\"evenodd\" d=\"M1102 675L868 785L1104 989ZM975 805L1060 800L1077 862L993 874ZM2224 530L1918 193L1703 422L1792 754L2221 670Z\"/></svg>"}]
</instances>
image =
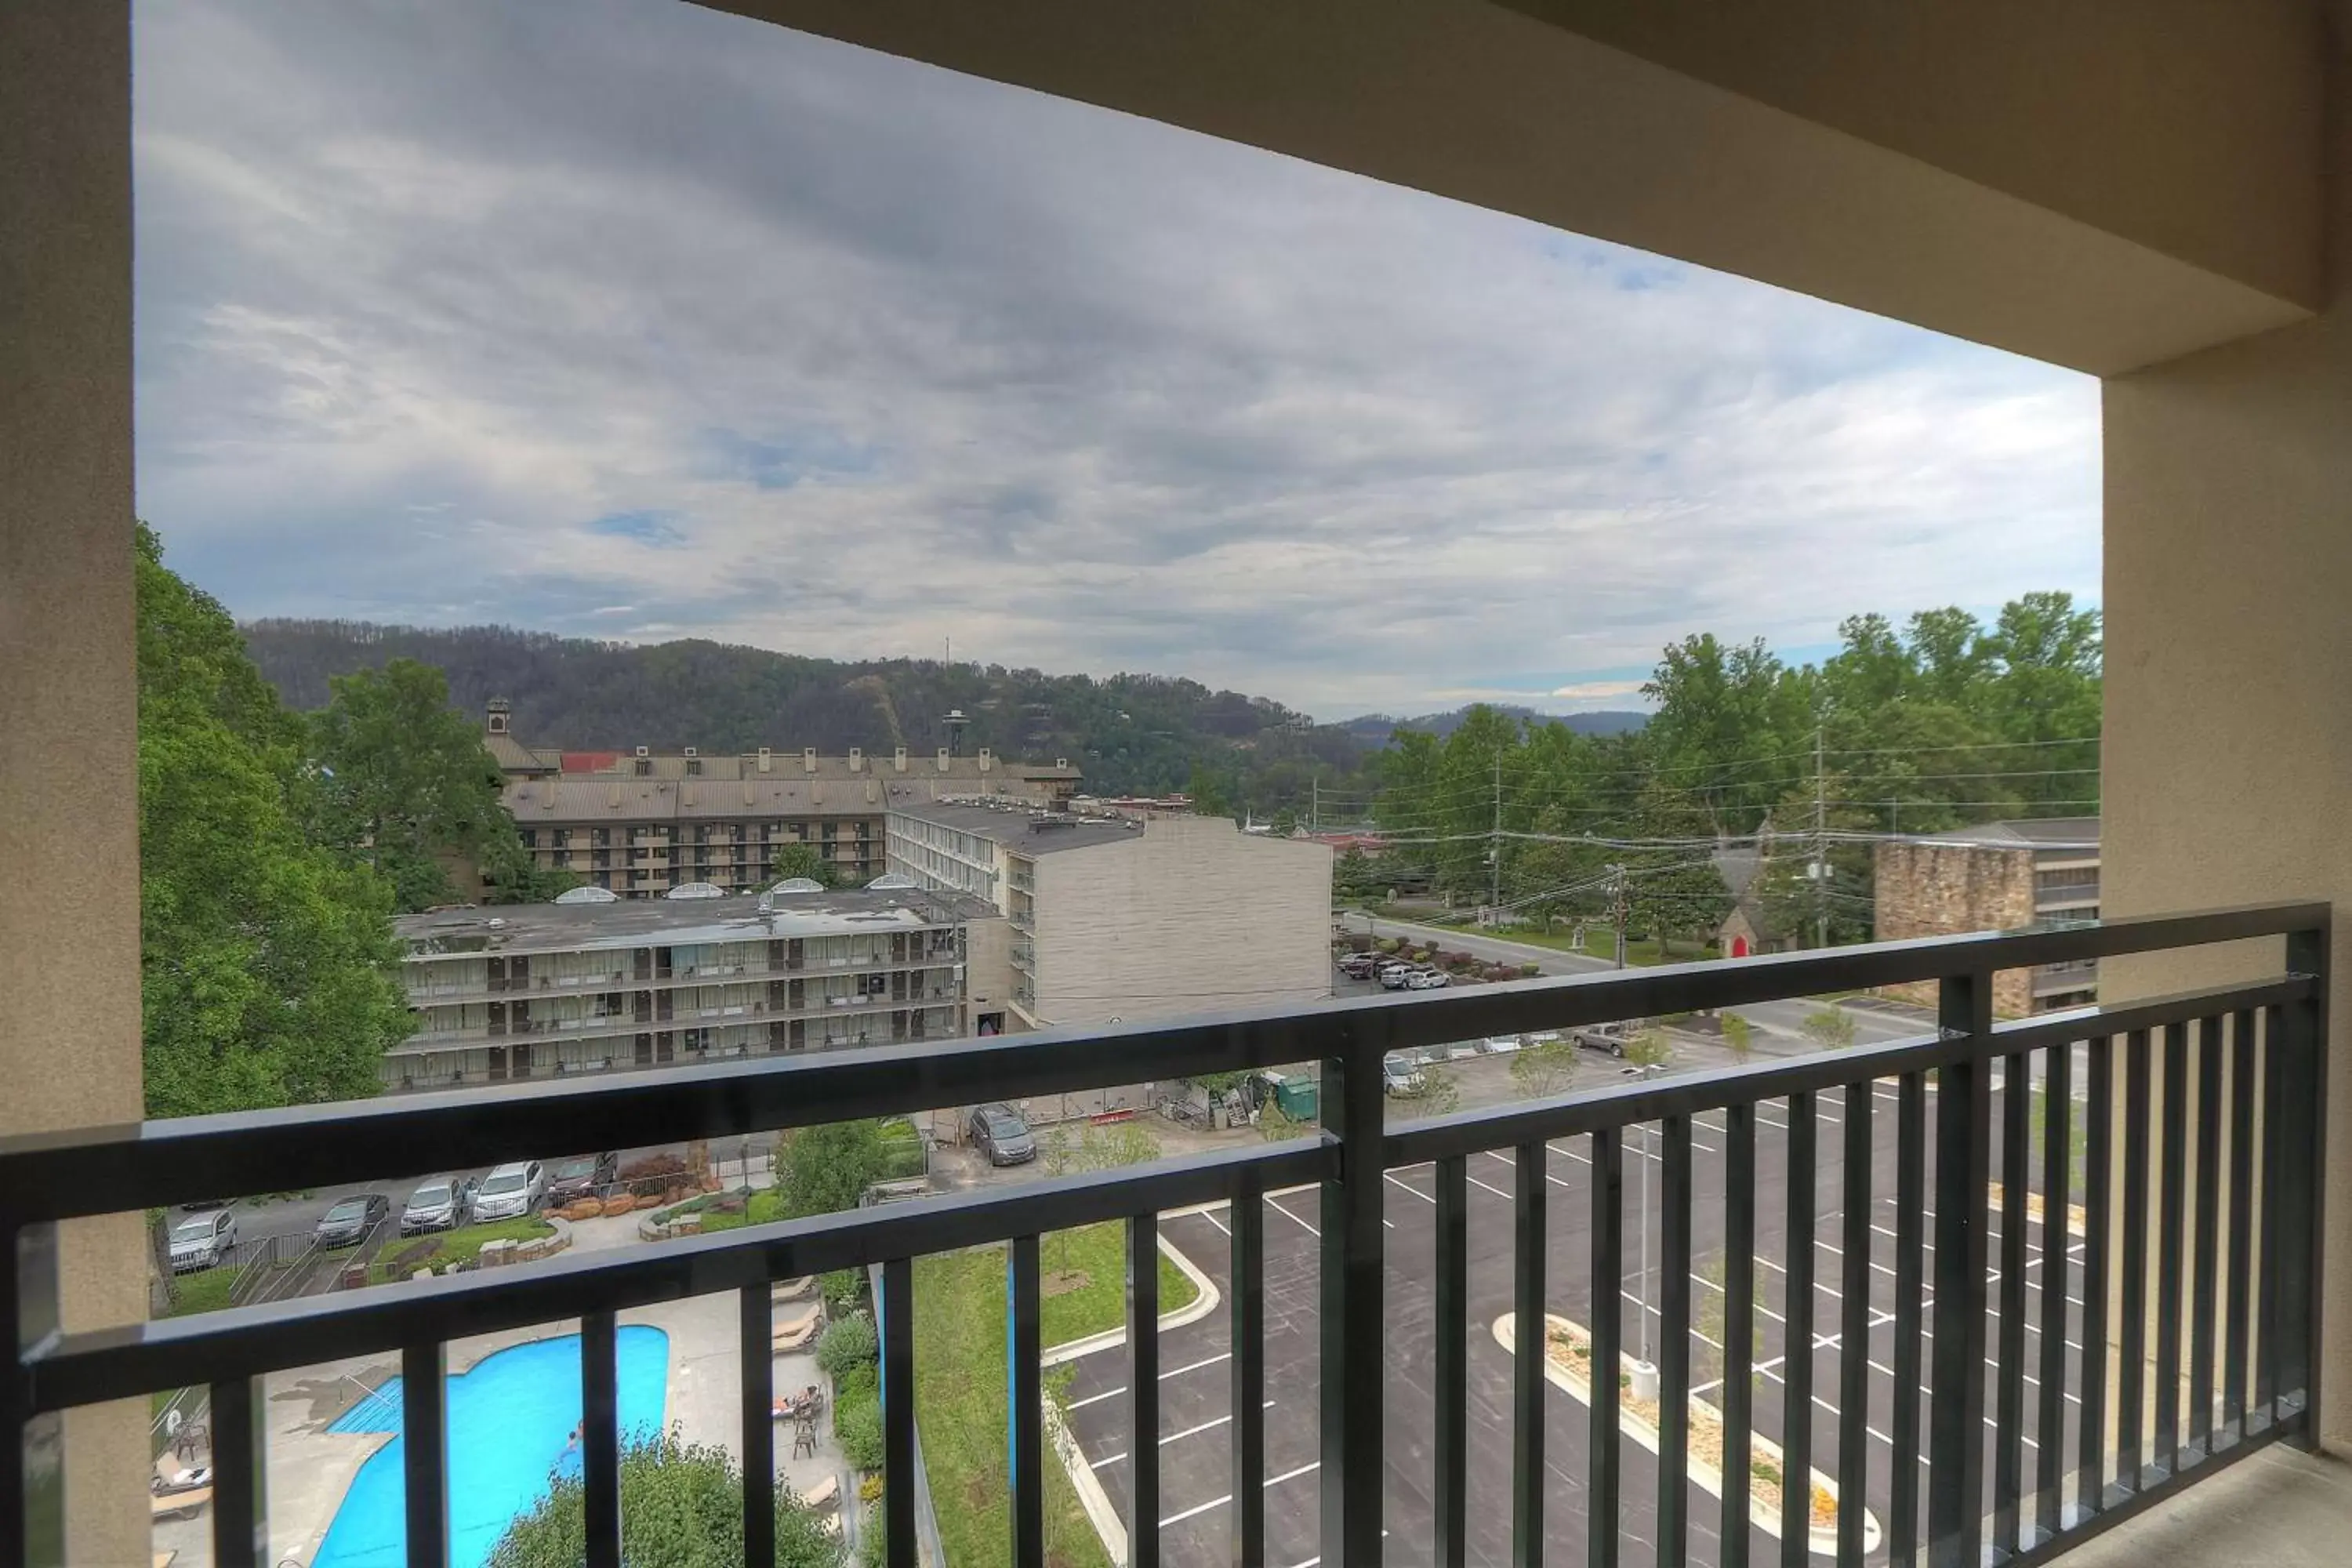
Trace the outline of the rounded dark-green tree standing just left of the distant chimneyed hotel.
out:
<instances>
[{"instance_id":1,"label":"rounded dark-green tree standing just left of the distant chimneyed hotel","mask_svg":"<svg viewBox=\"0 0 2352 1568\"><path fill-rule=\"evenodd\" d=\"M449 708L440 670L395 658L327 686L334 696L310 715L306 773L320 844L383 877L400 910L449 903L452 863L496 879L503 900L543 893L499 799L499 764L473 722Z\"/></svg>"}]
</instances>

